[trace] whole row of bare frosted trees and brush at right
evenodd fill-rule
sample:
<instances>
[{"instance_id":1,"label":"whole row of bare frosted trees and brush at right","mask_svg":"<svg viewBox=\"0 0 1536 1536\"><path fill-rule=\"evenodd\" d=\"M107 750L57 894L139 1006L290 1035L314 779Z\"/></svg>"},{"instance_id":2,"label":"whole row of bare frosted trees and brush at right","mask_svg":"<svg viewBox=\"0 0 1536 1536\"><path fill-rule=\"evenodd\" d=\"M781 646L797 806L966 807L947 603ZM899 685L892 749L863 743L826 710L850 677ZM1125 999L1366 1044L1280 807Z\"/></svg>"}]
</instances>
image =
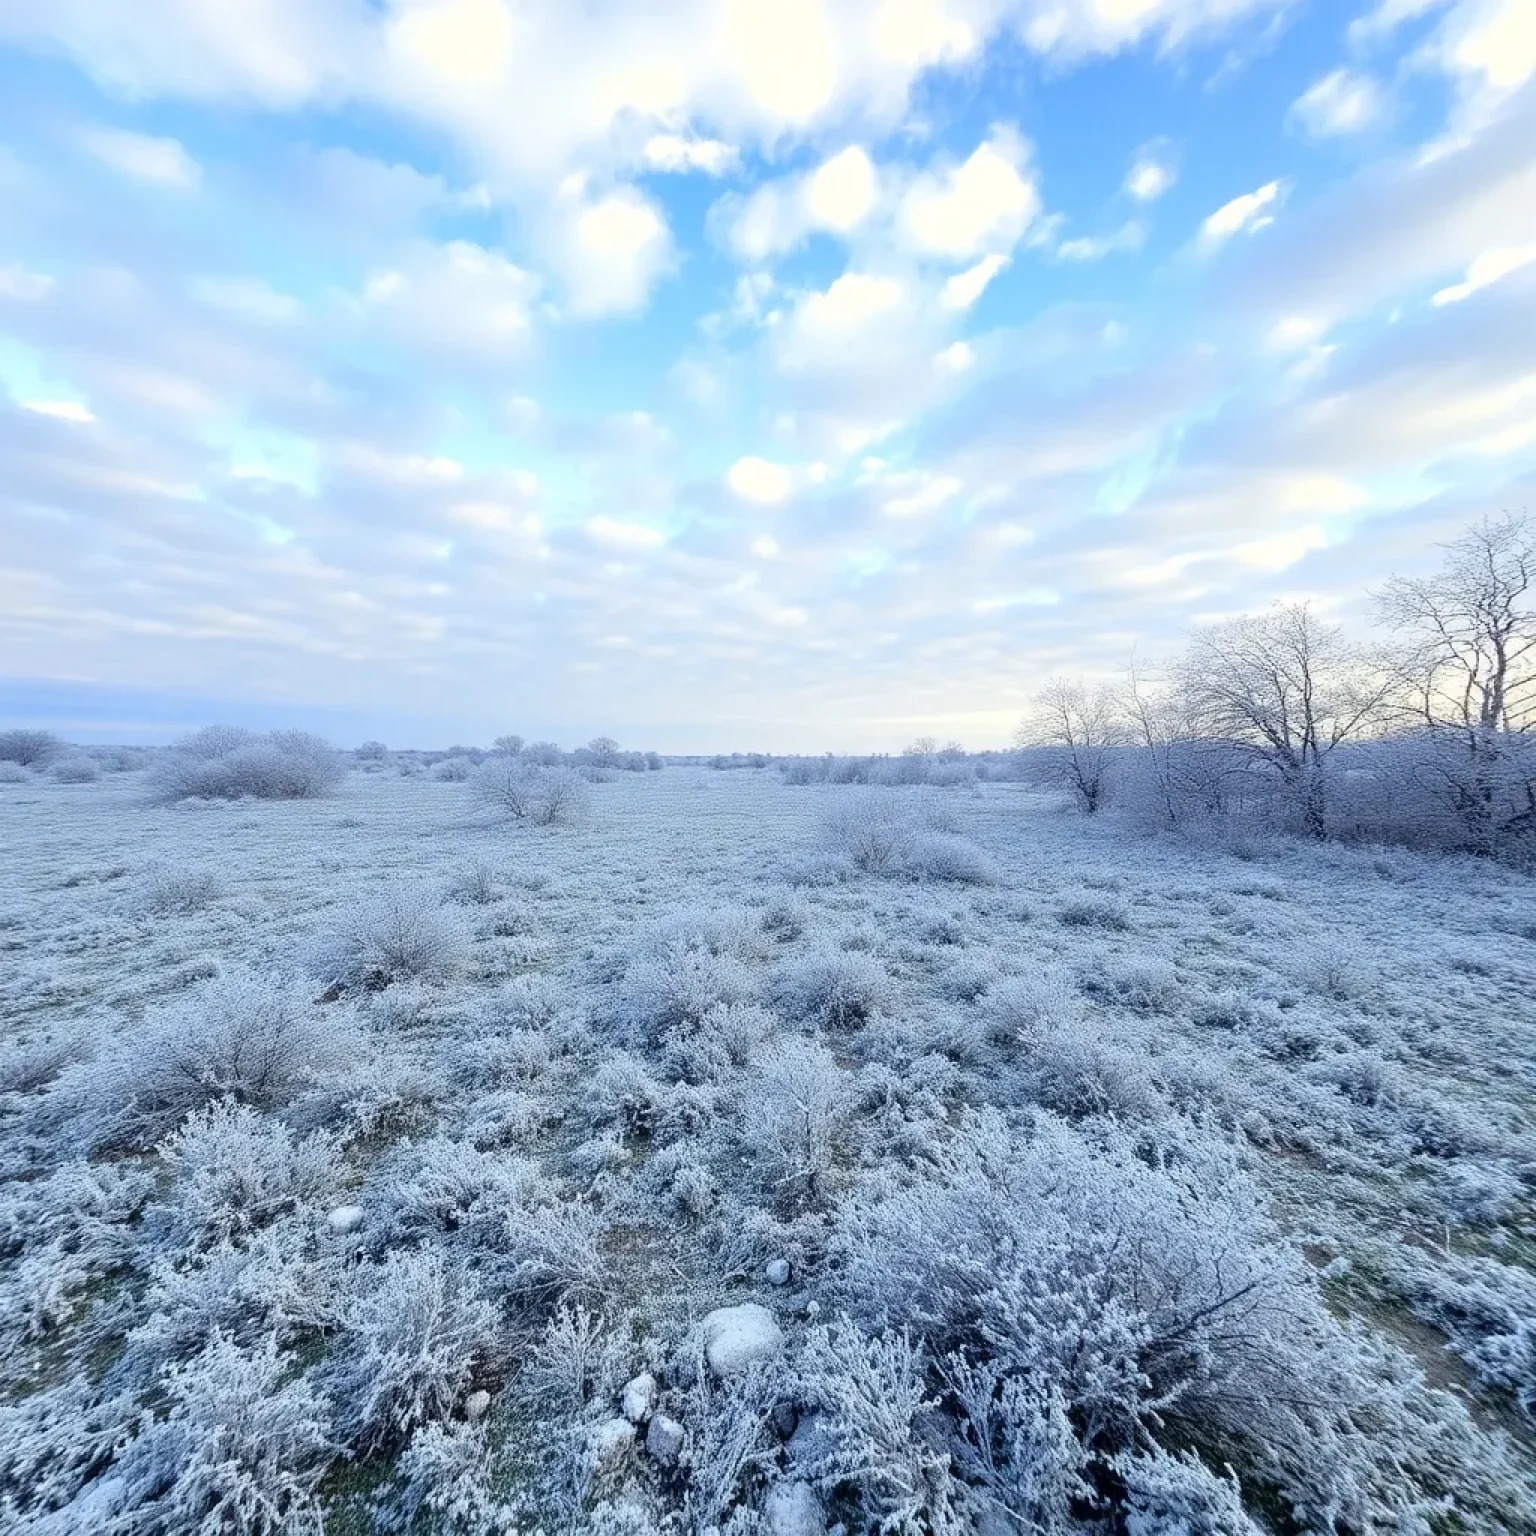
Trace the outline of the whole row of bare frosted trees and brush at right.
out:
<instances>
[{"instance_id":1,"label":"whole row of bare frosted trees and brush at right","mask_svg":"<svg viewBox=\"0 0 1536 1536\"><path fill-rule=\"evenodd\" d=\"M1018 733L1080 809L1170 826L1264 819L1536 857L1536 527L1485 518L1428 578L1373 594L1350 639L1309 604L1197 630L1158 676L1055 677Z\"/></svg>"}]
</instances>

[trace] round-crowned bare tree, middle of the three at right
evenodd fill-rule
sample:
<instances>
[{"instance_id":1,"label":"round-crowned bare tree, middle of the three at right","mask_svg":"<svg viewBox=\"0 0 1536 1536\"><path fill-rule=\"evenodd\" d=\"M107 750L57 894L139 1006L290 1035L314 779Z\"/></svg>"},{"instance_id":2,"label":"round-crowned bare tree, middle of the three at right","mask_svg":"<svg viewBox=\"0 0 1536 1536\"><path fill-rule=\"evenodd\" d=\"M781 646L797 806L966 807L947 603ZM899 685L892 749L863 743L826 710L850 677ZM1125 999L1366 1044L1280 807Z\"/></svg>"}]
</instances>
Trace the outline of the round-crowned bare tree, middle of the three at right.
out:
<instances>
[{"instance_id":1,"label":"round-crowned bare tree, middle of the three at right","mask_svg":"<svg viewBox=\"0 0 1536 1536\"><path fill-rule=\"evenodd\" d=\"M1197 631L1180 674L1197 733L1270 776L1310 837L1327 836L1330 757L1381 720L1392 687L1307 604Z\"/></svg>"}]
</instances>

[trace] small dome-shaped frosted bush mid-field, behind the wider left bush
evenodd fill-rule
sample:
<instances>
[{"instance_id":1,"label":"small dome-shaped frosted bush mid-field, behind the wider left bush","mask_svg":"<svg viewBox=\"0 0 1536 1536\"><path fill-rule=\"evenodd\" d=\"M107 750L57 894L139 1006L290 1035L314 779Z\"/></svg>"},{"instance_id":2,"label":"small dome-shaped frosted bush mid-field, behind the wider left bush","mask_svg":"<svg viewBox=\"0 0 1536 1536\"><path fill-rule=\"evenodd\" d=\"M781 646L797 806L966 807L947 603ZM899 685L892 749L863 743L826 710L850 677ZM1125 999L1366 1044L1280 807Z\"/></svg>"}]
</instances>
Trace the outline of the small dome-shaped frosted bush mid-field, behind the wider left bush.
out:
<instances>
[{"instance_id":1,"label":"small dome-shaped frosted bush mid-field, behind the wider left bush","mask_svg":"<svg viewBox=\"0 0 1536 1536\"><path fill-rule=\"evenodd\" d=\"M427 891L389 889L349 908L310 954L310 971L338 991L382 991L461 972L468 931Z\"/></svg>"}]
</instances>

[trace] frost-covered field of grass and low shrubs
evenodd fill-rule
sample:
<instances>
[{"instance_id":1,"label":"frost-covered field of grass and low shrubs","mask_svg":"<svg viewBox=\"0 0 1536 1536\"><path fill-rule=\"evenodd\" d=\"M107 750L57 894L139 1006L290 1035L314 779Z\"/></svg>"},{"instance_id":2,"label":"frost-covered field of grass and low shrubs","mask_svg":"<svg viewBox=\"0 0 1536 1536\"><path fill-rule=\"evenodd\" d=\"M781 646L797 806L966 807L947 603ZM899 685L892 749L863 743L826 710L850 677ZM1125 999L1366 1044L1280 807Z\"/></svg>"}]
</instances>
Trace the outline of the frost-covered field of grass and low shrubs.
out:
<instances>
[{"instance_id":1,"label":"frost-covered field of grass and low shrubs","mask_svg":"<svg viewBox=\"0 0 1536 1536\"><path fill-rule=\"evenodd\" d=\"M687 768L0 854L8 1528L1536 1528L1528 876Z\"/></svg>"}]
</instances>

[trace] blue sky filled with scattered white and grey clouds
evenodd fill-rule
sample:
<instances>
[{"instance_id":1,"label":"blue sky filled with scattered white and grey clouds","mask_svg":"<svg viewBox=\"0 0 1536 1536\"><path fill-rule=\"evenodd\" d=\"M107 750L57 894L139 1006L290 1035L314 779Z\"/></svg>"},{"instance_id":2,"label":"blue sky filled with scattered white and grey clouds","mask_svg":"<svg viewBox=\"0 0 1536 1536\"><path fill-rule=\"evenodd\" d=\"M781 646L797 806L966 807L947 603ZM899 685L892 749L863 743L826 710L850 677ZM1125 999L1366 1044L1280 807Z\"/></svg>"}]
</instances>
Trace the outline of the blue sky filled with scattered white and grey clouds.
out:
<instances>
[{"instance_id":1,"label":"blue sky filled with scattered white and grey clouds","mask_svg":"<svg viewBox=\"0 0 1536 1536\"><path fill-rule=\"evenodd\" d=\"M1530 0L0 0L0 716L1001 745L1536 476Z\"/></svg>"}]
</instances>

